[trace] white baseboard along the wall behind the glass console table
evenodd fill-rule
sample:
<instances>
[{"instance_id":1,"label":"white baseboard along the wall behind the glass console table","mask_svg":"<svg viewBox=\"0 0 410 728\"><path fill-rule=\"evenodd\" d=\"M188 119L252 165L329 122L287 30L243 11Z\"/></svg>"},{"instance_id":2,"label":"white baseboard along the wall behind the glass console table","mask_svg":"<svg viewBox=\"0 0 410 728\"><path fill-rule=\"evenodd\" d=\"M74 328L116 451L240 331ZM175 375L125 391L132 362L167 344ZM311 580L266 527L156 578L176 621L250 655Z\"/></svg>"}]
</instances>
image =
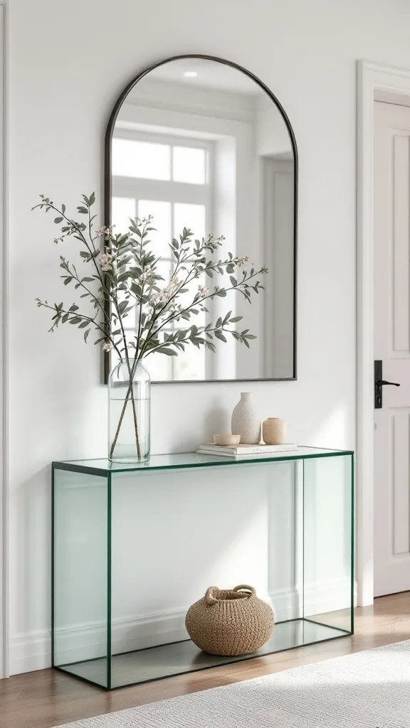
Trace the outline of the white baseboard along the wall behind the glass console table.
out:
<instances>
[{"instance_id":1,"label":"white baseboard along the wall behind the glass console table","mask_svg":"<svg viewBox=\"0 0 410 728\"><path fill-rule=\"evenodd\" d=\"M274 608L276 622L297 619L301 616L301 593L295 589L270 592L269 600ZM305 585L305 615L336 612L349 606L349 582L346 579ZM185 630L186 609L172 612L145 614L112 624L113 653L131 652L135 649L177 642L187 639ZM90 660L106 654L107 630L104 623L79 625L61 629L56 637L58 661L61 664ZM10 640L10 674L44 670L51 665L51 633L32 632Z\"/></svg>"}]
</instances>

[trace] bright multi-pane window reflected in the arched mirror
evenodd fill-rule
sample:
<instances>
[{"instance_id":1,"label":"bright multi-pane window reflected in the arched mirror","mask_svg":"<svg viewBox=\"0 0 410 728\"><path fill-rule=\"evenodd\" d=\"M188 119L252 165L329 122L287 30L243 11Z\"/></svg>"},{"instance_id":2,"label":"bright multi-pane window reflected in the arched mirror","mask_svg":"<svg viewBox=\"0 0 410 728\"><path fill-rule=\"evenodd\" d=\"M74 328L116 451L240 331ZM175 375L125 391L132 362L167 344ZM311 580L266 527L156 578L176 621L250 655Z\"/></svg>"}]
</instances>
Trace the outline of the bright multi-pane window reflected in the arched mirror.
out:
<instances>
[{"instance_id":1,"label":"bright multi-pane window reflected in the arched mirror","mask_svg":"<svg viewBox=\"0 0 410 728\"><path fill-rule=\"evenodd\" d=\"M153 216L150 249L160 258L158 273L165 286L174 272L174 257L169 243L179 237L184 227L201 240L212 230L211 192L209 186L213 144L192 138L169 138L160 133L119 132L126 138L115 137L112 143L113 191L112 223L115 232L128 231L130 218ZM132 136L132 138L131 138ZM152 138L158 141L151 141ZM162 141L160 141L162 140ZM179 302L190 303L198 285L197 279L187 285L187 293ZM189 300L188 300L189 299ZM128 323L128 320L125 320ZM206 314L195 317L196 325L206 324ZM185 320L175 321L166 329L187 328ZM129 320L126 331L132 340L136 321ZM151 355L144 365L155 380L206 379L206 350L187 346L178 357Z\"/></svg>"}]
</instances>

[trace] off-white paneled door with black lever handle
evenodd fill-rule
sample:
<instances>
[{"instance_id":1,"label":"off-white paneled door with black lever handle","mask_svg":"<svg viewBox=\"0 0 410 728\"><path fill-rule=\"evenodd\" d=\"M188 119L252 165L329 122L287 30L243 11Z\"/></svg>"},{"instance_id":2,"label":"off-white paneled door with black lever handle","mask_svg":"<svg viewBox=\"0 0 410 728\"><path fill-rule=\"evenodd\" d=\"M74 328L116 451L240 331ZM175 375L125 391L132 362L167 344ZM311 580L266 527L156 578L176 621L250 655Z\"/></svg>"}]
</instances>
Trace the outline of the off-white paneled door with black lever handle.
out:
<instances>
[{"instance_id":1,"label":"off-white paneled door with black lever handle","mask_svg":"<svg viewBox=\"0 0 410 728\"><path fill-rule=\"evenodd\" d=\"M410 108L375 102L374 596L410 590Z\"/></svg>"}]
</instances>

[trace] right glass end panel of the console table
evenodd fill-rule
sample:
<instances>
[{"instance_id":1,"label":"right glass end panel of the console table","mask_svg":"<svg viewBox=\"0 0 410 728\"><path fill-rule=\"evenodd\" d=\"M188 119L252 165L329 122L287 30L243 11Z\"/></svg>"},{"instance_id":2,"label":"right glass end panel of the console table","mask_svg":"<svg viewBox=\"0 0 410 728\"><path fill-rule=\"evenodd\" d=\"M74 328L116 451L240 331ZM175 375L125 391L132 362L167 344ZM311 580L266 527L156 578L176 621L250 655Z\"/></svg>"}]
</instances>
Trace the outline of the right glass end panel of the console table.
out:
<instances>
[{"instance_id":1,"label":"right glass end panel of the console table","mask_svg":"<svg viewBox=\"0 0 410 728\"><path fill-rule=\"evenodd\" d=\"M303 617L352 630L352 455L303 461Z\"/></svg>"}]
</instances>

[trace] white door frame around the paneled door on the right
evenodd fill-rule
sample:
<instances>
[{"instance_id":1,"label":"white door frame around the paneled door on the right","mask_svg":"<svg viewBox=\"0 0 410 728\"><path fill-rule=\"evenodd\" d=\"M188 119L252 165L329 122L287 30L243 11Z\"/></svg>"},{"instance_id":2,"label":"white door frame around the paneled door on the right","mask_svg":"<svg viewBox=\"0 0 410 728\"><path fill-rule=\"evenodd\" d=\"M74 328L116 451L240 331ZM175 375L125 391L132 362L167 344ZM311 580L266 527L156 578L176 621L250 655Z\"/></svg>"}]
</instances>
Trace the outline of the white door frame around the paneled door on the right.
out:
<instances>
[{"instance_id":1,"label":"white door frame around the paneled door on the right","mask_svg":"<svg viewBox=\"0 0 410 728\"><path fill-rule=\"evenodd\" d=\"M374 100L410 100L410 70L357 63L357 602L374 599Z\"/></svg>"}]
</instances>

